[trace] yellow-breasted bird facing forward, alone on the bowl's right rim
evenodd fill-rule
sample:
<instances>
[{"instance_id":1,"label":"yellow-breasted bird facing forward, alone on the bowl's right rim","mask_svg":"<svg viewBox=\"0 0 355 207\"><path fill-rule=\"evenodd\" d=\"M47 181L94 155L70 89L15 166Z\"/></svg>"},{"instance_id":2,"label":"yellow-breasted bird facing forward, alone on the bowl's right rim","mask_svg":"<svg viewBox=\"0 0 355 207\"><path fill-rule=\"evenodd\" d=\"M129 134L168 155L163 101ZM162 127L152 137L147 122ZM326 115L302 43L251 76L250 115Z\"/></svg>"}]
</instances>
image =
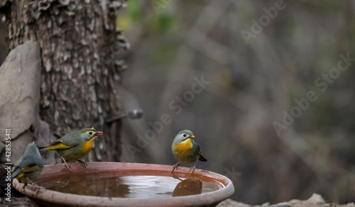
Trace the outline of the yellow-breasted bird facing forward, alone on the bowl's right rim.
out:
<instances>
[{"instance_id":1,"label":"yellow-breasted bird facing forward, alone on the bowl's right rim","mask_svg":"<svg viewBox=\"0 0 355 207\"><path fill-rule=\"evenodd\" d=\"M173 145L171 145L171 150L173 150L173 155L179 161L173 166L171 172L174 172L176 167L181 163L190 164L194 163L191 167L190 172L194 172L197 160L206 162L207 160L202 157L202 150L200 146L193 140L195 138L194 134L190 130L182 130L178 135L175 136L173 140Z\"/></svg>"}]
</instances>

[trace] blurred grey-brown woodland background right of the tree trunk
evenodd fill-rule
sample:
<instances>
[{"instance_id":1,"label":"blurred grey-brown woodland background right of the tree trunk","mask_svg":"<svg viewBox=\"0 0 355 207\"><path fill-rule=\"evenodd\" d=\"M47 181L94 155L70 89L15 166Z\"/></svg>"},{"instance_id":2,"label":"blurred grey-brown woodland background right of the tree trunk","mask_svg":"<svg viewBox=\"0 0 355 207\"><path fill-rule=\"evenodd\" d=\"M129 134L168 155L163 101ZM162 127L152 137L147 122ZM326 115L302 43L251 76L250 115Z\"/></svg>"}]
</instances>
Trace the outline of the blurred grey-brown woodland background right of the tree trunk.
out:
<instances>
[{"instance_id":1,"label":"blurred grey-brown woodland background right of the tree trunk","mask_svg":"<svg viewBox=\"0 0 355 207\"><path fill-rule=\"evenodd\" d=\"M355 201L354 18L351 0L127 1L119 93L144 116L124 120L121 161L175 164L189 129L197 168L229 177L236 201Z\"/></svg>"}]
</instances>

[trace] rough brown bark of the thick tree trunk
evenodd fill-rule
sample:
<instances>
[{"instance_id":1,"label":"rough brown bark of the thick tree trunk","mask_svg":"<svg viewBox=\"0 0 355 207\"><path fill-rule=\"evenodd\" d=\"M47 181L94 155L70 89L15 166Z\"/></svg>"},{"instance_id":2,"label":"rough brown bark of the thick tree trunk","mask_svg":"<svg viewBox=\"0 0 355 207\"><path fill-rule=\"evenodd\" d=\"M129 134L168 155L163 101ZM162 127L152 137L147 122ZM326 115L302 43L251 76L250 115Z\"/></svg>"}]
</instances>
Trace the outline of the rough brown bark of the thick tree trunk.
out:
<instances>
[{"instance_id":1,"label":"rough brown bark of the thick tree trunk","mask_svg":"<svg viewBox=\"0 0 355 207\"><path fill-rule=\"evenodd\" d=\"M115 84L128 43L116 30L122 1L13 1L6 13L9 48L33 40L40 46L40 118L56 138L81 128L104 131L89 160L119 161L121 112ZM26 114L24 114L26 116ZM45 125L45 123L43 123Z\"/></svg>"}]
</instances>

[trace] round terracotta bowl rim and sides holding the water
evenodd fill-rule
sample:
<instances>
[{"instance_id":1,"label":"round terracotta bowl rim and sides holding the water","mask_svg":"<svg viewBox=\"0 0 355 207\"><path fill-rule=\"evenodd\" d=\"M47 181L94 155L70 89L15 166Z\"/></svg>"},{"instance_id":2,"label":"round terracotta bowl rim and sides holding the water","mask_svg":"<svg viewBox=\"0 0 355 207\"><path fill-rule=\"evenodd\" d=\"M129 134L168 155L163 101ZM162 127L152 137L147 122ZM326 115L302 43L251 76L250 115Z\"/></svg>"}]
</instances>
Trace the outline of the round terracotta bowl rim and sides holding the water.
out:
<instances>
[{"instance_id":1,"label":"round terracotta bowl rim and sides holding the water","mask_svg":"<svg viewBox=\"0 0 355 207\"><path fill-rule=\"evenodd\" d=\"M156 176L172 176L170 165L162 164L142 164L142 163L126 163L126 162L88 162L87 169L82 164L75 162L70 163L72 171L70 172L64 164L46 165L42 174L36 182L40 184L41 180L50 179L51 177L65 177L70 174L89 174L90 172L114 173L119 172L126 175L156 175ZM190 177L190 168L178 167L175 169L175 177ZM38 206L216 206L221 201L229 198L234 194L234 186L230 179L202 169L195 169L194 177L198 179L213 179L219 181L224 187L216 191L204 194L196 194L190 196L178 196L168 198L120 198L120 197L102 197L102 196L82 196L77 194L66 194L58 191L51 191L43 187L34 186L32 184L19 183L17 179L13 180L13 186L16 190L25 194Z\"/></svg>"}]
</instances>

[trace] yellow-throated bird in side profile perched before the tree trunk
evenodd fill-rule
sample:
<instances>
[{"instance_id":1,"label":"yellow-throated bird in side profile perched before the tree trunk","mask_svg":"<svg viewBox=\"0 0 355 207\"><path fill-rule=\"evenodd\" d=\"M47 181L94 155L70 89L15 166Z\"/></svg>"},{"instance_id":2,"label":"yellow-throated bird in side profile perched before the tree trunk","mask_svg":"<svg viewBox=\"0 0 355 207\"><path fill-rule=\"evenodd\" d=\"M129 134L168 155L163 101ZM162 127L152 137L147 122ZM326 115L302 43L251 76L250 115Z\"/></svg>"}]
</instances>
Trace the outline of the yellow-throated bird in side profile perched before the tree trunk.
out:
<instances>
[{"instance_id":1,"label":"yellow-throated bird in side profile perched before the tree trunk","mask_svg":"<svg viewBox=\"0 0 355 207\"><path fill-rule=\"evenodd\" d=\"M82 163L82 166L87 168L87 163L79 160L92 150L92 142L98 135L103 135L102 131L94 128L83 128L82 130L67 133L62 138L49 143L44 147L38 147L45 150L53 150L62 157L67 169L70 169L66 160L77 160Z\"/></svg>"}]
</instances>

